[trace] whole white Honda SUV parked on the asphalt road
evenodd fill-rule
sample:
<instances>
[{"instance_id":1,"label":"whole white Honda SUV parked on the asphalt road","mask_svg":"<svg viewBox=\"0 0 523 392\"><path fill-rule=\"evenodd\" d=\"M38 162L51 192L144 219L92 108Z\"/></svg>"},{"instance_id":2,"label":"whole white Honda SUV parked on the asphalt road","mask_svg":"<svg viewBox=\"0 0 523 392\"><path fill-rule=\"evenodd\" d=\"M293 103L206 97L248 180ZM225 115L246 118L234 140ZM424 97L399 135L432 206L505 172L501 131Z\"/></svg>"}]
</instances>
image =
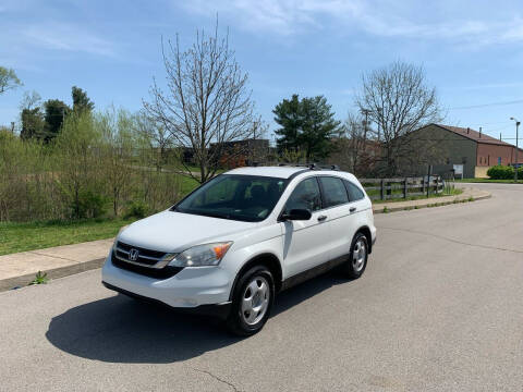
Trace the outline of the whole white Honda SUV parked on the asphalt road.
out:
<instances>
[{"instance_id":1,"label":"whole white Honda SUV parked on the asphalt road","mask_svg":"<svg viewBox=\"0 0 523 392\"><path fill-rule=\"evenodd\" d=\"M372 204L354 175L316 167L240 168L163 212L120 231L104 284L135 297L221 316L248 335L276 294L341 266L365 270L376 241Z\"/></svg>"}]
</instances>

